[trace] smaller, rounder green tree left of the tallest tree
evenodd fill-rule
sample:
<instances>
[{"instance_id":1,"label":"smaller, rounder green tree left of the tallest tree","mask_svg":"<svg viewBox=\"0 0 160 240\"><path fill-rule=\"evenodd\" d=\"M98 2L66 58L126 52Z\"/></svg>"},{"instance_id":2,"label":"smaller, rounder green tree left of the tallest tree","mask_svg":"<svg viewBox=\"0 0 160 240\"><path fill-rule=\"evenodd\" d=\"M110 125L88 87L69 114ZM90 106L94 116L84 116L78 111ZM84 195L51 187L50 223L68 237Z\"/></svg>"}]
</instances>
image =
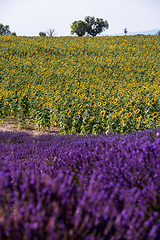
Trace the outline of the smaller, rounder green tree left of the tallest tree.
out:
<instances>
[{"instance_id":1,"label":"smaller, rounder green tree left of the tallest tree","mask_svg":"<svg viewBox=\"0 0 160 240\"><path fill-rule=\"evenodd\" d=\"M77 34L79 37L85 35L87 30L87 24L82 20L74 21L71 25L71 34Z\"/></svg>"}]
</instances>

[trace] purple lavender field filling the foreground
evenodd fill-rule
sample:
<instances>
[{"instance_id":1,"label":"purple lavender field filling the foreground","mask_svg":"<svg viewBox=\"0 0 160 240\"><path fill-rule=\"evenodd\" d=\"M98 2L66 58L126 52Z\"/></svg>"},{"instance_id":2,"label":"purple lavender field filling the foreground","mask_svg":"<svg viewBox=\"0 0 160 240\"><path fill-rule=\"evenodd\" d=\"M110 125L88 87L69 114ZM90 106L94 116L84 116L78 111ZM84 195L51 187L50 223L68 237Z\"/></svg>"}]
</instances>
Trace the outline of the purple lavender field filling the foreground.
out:
<instances>
[{"instance_id":1,"label":"purple lavender field filling the foreground","mask_svg":"<svg viewBox=\"0 0 160 240\"><path fill-rule=\"evenodd\" d=\"M160 239L160 127L0 132L0 239Z\"/></svg>"}]
</instances>

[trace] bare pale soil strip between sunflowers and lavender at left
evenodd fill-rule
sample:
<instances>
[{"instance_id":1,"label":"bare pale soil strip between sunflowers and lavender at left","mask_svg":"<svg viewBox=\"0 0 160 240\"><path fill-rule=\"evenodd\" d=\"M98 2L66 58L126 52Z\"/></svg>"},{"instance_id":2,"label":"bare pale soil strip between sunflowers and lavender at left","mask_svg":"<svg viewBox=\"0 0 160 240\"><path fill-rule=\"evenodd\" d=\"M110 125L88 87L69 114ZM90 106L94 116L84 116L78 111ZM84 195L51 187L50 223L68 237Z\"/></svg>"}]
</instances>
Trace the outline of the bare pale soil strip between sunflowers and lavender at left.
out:
<instances>
[{"instance_id":1,"label":"bare pale soil strip between sunflowers and lavender at left","mask_svg":"<svg viewBox=\"0 0 160 240\"><path fill-rule=\"evenodd\" d=\"M22 126L19 126L19 123L15 118L7 117L5 120L0 121L0 131L27 132L33 135L58 134L60 132L60 127L53 126L48 129L39 131L38 127L34 124L26 123L22 127Z\"/></svg>"}]
</instances>

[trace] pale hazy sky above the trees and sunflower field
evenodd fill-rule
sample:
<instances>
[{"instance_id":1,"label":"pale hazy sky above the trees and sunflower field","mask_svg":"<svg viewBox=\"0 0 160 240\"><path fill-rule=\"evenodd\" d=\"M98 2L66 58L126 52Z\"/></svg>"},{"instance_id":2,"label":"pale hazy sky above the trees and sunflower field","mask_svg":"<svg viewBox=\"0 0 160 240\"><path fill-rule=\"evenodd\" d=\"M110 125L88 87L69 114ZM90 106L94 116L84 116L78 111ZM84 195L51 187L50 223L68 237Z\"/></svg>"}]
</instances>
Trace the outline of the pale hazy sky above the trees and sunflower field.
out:
<instances>
[{"instance_id":1,"label":"pale hazy sky above the trees and sunflower field","mask_svg":"<svg viewBox=\"0 0 160 240\"><path fill-rule=\"evenodd\" d=\"M85 16L109 23L104 35L160 29L160 0L0 0L0 23L18 36L55 29L71 36L70 25Z\"/></svg>"}]
</instances>

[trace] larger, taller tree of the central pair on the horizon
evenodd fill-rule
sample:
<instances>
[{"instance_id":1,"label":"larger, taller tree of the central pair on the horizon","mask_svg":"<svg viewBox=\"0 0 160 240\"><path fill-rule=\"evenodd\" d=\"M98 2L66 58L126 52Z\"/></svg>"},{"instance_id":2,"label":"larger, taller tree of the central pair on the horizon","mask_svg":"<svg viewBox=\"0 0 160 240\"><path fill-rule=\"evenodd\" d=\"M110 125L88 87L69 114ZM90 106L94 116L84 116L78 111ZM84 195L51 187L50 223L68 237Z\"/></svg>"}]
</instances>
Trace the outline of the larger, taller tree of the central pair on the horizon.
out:
<instances>
[{"instance_id":1,"label":"larger, taller tree of the central pair on the horizon","mask_svg":"<svg viewBox=\"0 0 160 240\"><path fill-rule=\"evenodd\" d=\"M95 19L95 17L87 16L84 20L87 24L86 32L93 37L109 28L107 20L102 18Z\"/></svg>"}]
</instances>

